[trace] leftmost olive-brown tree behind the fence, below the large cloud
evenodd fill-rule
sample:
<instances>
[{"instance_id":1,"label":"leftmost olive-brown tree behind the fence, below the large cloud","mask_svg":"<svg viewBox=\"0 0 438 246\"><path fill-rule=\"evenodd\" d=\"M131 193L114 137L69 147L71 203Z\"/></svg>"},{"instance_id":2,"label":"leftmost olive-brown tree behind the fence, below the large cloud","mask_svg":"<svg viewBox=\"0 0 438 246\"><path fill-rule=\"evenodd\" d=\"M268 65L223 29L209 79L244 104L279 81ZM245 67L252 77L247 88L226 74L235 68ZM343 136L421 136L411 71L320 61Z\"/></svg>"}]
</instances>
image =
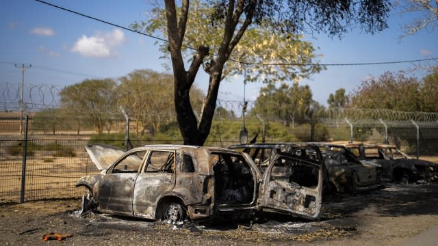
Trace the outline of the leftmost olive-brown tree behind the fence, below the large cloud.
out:
<instances>
[{"instance_id":1,"label":"leftmost olive-brown tree behind the fence, below the large cloud","mask_svg":"<svg viewBox=\"0 0 438 246\"><path fill-rule=\"evenodd\" d=\"M112 118L105 112L116 109L116 87L114 79L86 79L60 91L61 107L81 113L85 111L96 131L102 133L107 124L108 127L112 125Z\"/></svg>"}]
</instances>

